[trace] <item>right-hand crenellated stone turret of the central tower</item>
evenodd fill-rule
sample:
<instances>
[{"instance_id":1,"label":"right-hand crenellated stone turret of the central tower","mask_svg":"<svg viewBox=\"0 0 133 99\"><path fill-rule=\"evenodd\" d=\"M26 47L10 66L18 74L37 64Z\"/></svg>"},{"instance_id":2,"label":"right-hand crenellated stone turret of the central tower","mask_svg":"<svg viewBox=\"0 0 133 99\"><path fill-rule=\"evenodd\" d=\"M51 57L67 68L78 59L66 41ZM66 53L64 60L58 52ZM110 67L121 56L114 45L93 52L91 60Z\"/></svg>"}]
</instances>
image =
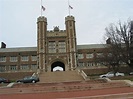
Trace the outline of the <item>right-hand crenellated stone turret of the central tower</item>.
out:
<instances>
[{"instance_id":1,"label":"right-hand crenellated stone turret of the central tower","mask_svg":"<svg viewBox=\"0 0 133 99\"><path fill-rule=\"evenodd\" d=\"M71 70L77 67L76 51L77 51L77 41L76 41L76 31L75 31L75 18L73 16L67 16L65 18L66 33L68 41L68 53L69 53L69 67Z\"/></svg>"}]
</instances>

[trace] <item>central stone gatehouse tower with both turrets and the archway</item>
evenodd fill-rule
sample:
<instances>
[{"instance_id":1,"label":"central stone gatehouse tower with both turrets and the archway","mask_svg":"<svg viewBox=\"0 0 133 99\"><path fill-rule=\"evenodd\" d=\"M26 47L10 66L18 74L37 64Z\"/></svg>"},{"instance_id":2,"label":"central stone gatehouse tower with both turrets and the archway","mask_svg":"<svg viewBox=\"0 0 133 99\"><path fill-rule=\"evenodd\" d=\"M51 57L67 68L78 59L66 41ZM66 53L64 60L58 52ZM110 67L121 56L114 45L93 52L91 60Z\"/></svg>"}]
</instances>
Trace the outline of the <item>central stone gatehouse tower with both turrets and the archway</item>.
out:
<instances>
[{"instance_id":1,"label":"central stone gatehouse tower with both turrets and the archway","mask_svg":"<svg viewBox=\"0 0 133 99\"><path fill-rule=\"evenodd\" d=\"M65 25L66 30L60 30L58 26L47 30L47 18L37 19L37 64L41 71L53 71L55 67L68 71L77 67L74 17L65 17Z\"/></svg>"}]
</instances>

